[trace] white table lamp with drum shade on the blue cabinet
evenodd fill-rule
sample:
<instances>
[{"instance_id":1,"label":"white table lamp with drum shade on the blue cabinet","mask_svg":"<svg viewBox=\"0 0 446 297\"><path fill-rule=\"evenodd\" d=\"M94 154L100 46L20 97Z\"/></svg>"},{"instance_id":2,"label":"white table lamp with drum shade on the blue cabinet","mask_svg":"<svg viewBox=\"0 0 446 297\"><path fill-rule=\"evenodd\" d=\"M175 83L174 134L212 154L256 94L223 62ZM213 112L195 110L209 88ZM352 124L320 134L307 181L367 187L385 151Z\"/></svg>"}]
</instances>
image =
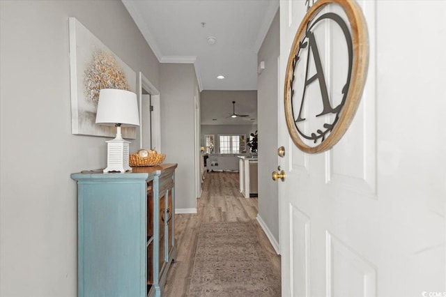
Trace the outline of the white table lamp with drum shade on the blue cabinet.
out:
<instances>
[{"instance_id":1,"label":"white table lamp with drum shade on the blue cabinet","mask_svg":"<svg viewBox=\"0 0 446 297\"><path fill-rule=\"evenodd\" d=\"M96 123L116 127L116 138L107 141L107 168L104 172L132 170L128 165L130 142L123 139L121 127L139 125L137 95L125 90L101 89Z\"/></svg>"}]
</instances>

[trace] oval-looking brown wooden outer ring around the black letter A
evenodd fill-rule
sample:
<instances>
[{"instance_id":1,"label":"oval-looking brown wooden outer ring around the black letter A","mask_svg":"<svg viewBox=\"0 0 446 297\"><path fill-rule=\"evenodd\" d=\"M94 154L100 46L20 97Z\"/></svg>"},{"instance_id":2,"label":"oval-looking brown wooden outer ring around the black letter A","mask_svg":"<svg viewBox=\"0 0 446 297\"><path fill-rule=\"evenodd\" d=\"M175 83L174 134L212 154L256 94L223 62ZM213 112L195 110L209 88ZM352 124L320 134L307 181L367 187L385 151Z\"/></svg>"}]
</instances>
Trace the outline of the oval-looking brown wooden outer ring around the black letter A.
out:
<instances>
[{"instance_id":1,"label":"oval-looking brown wooden outer ring around the black letter A","mask_svg":"<svg viewBox=\"0 0 446 297\"><path fill-rule=\"evenodd\" d=\"M314 17L324 8L324 6L330 3L337 3L344 9L348 22L350 24L352 41L353 41L353 65L351 71L351 83L348 87L348 93L346 96L346 102L344 107L339 112L339 120L334 128L331 130L327 139L323 140L321 144L317 146L308 146L300 138L297 128L295 127L293 117L293 107L291 98L291 77L293 77L293 59L298 50L298 46L301 40L305 37L305 31L307 24L314 20ZM322 153L332 148L334 144L339 142L342 136L344 136L346 130L353 121L358 105L360 104L362 91L364 90L364 84L367 77L367 69L369 66L369 36L367 33L367 24L365 23L364 15L361 8L355 1L352 0L319 0L305 15L304 19L300 23L298 31L295 34L291 52L288 58L288 64L286 65L285 75L285 90L284 90L284 104L285 104L285 119L286 126L288 127L291 139L301 151L305 153Z\"/></svg>"}]
</instances>

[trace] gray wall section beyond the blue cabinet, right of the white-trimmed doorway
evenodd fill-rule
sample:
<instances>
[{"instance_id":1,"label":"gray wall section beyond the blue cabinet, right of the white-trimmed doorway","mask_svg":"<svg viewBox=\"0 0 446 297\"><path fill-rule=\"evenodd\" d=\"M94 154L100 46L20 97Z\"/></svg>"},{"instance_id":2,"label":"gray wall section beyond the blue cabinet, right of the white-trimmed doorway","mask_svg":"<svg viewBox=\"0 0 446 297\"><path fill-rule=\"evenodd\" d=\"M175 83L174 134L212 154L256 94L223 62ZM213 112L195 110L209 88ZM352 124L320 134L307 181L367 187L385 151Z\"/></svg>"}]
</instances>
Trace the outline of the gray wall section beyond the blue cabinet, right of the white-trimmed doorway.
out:
<instances>
[{"instance_id":1,"label":"gray wall section beyond the blue cabinet, right of the white-trimmed doorway","mask_svg":"<svg viewBox=\"0 0 446 297\"><path fill-rule=\"evenodd\" d=\"M194 96L199 96L193 64L162 63L161 145L176 169L176 208L197 207L195 195Z\"/></svg>"}]
</instances>

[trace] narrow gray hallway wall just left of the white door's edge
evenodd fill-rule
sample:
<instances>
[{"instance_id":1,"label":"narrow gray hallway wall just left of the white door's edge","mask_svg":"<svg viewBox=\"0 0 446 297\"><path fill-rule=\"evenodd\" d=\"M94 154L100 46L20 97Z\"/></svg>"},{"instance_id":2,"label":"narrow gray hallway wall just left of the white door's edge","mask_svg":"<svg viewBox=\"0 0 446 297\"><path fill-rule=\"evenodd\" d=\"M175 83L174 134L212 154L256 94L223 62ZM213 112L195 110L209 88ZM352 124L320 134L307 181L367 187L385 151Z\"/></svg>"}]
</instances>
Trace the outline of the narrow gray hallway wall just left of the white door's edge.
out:
<instances>
[{"instance_id":1,"label":"narrow gray hallway wall just left of the white door's edge","mask_svg":"<svg viewBox=\"0 0 446 297\"><path fill-rule=\"evenodd\" d=\"M259 216L279 243L279 201L277 181L271 172L277 169L277 58L279 57L279 12L274 17L257 59L265 69L257 77L259 112ZM282 102L282 101L281 101ZM281 144L282 145L282 144Z\"/></svg>"}]
</instances>

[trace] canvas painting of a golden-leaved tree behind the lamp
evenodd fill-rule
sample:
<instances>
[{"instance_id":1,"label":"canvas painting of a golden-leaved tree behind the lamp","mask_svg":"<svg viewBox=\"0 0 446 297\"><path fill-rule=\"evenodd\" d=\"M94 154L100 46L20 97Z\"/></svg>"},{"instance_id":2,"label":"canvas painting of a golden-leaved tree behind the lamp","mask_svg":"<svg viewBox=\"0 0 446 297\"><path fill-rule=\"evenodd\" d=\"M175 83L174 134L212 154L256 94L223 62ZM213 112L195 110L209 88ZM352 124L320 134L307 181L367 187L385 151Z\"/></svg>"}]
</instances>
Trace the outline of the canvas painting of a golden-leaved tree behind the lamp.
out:
<instances>
[{"instance_id":1,"label":"canvas painting of a golden-leaved tree behind the lamp","mask_svg":"<svg viewBox=\"0 0 446 297\"><path fill-rule=\"evenodd\" d=\"M70 17L71 132L115 137L116 128L96 125L100 89L136 91L136 73L75 17ZM136 128L123 127L124 138L135 139Z\"/></svg>"}]
</instances>

